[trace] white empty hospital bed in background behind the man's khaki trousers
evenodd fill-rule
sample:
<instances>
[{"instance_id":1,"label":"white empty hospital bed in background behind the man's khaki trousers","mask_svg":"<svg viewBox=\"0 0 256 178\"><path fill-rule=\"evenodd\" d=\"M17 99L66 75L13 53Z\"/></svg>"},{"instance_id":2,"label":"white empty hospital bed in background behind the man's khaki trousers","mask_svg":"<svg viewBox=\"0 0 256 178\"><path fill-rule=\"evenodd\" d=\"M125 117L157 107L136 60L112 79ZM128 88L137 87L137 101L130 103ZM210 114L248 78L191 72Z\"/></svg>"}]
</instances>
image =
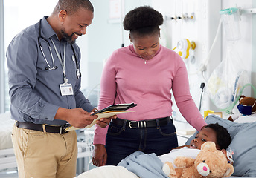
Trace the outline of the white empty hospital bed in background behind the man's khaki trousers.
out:
<instances>
[{"instance_id":1,"label":"white empty hospital bed in background behind the man's khaki trousers","mask_svg":"<svg viewBox=\"0 0 256 178\"><path fill-rule=\"evenodd\" d=\"M0 177L10 177L9 174L17 175L17 164L16 158L13 151L13 144L11 141L11 131L14 125L14 120L10 119L10 113L0 114ZM77 174L86 171L82 169L80 162L85 162L85 159L89 159L93 151L93 136L94 128L79 130L77 131L77 142L78 155L77 155L77 169L80 171ZM80 159L79 159L80 158ZM89 162L89 161L88 161ZM86 162L86 164L88 164ZM86 165L83 164L83 165ZM18 177L18 176L16 176Z\"/></svg>"}]
</instances>

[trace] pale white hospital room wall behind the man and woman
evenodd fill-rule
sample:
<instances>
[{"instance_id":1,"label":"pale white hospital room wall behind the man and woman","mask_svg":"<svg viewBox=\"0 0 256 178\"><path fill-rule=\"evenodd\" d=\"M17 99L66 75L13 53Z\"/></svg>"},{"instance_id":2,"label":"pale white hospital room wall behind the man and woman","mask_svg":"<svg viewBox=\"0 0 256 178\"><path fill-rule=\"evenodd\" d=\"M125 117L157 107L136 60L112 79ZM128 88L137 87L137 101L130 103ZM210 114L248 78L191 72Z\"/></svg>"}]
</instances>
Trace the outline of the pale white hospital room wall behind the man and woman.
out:
<instances>
[{"instance_id":1,"label":"pale white hospital room wall behind the man and woman","mask_svg":"<svg viewBox=\"0 0 256 178\"><path fill-rule=\"evenodd\" d=\"M103 64L106 59L111 55L111 53L121 47L121 38L124 39L124 46L130 44L128 38L128 32L124 31L121 36L121 26L117 19L109 18L109 2L110 1L96 1L92 0L92 4L95 6L95 19L92 25L88 28L86 40L78 39L80 46L83 46L82 56L84 62L83 66L83 82L82 88L89 87L93 88L98 86L100 83L101 71L103 69ZM208 56L208 52L214 42L214 37L217 33L217 27L220 22L220 10L227 7L241 7L241 8L252 8L255 7L256 2L252 0L144 0L144 1L127 1L124 2L124 14L129 10L141 6L141 5L151 5L163 13L164 16L172 16L174 13L183 10L196 13L194 22L188 23L188 27L181 28L180 24L185 24L185 22L176 23L176 27L179 30L171 30L171 25L174 22L164 22L161 27L161 44L172 49L175 47L176 42L181 37L186 37L182 33L188 32L188 37L191 40L196 41L196 65L189 65L190 70L195 70L196 67L203 62ZM177 8L177 4L180 4ZM191 4L191 5L189 5ZM183 6L181 8L181 6ZM177 14L179 15L179 14ZM251 74L252 72L252 84L256 85L256 62L255 59L256 52L252 50L256 44L256 35L252 33L256 30L256 21L252 22L255 15L243 14L240 21L240 30L242 34L242 39L238 45L240 49L239 54L243 61L243 65ZM201 19L201 20L199 20ZM196 25L195 25L196 24ZM193 27L195 25L196 27ZM255 29L255 30L253 30ZM210 62L208 64L208 70L206 71L206 76L210 76L212 71L220 64L220 62L225 57L225 40L223 40L225 33L223 28L221 29L221 34L217 39L217 44L214 46L213 52L211 53ZM193 73L193 72L192 72ZM251 75L250 75L251 77ZM191 81L191 94L199 106L199 95L201 94L200 84L205 82L202 77L197 79L197 76L190 76ZM218 111L215 105L209 101L206 93L203 95L202 99L202 111L211 109Z\"/></svg>"}]
</instances>

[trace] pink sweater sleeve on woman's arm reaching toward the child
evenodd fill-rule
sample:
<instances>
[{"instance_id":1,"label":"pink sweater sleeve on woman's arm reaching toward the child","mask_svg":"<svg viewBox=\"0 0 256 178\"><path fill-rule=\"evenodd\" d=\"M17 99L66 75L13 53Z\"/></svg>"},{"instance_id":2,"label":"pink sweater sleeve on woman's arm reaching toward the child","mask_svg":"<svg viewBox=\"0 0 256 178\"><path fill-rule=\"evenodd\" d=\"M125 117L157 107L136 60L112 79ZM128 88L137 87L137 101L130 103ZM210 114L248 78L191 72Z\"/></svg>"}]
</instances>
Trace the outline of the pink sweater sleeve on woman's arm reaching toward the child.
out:
<instances>
[{"instance_id":1,"label":"pink sweater sleeve on woman's arm reaching toward the child","mask_svg":"<svg viewBox=\"0 0 256 178\"><path fill-rule=\"evenodd\" d=\"M193 126L193 128L200 131L201 128L206 125L206 122L192 99L189 90L187 69L182 59L180 61L180 65L176 70L176 75L173 79L173 96L182 116Z\"/></svg>"}]
</instances>

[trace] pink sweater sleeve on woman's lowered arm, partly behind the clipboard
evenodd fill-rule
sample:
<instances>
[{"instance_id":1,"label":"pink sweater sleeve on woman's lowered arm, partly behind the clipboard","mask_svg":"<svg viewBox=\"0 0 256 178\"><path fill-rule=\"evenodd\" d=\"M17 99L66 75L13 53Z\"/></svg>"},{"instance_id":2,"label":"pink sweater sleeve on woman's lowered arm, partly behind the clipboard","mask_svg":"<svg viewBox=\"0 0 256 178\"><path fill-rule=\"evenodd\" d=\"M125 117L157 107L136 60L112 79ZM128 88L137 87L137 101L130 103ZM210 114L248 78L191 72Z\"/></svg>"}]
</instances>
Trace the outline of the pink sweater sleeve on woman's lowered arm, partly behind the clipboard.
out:
<instances>
[{"instance_id":1,"label":"pink sweater sleeve on woman's lowered arm, partly behind the clipboard","mask_svg":"<svg viewBox=\"0 0 256 178\"><path fill-rule=\"evenodd\" d=\"M107 60L105 67L103 68L103 73L100 80L100 99L98 108L106 108L109 105L114 104L116 95L116 82L115 82L115 53L110 56ZM95 137L94 145L106 143L106 132L109 126L106 128L100 128L100 126L95 125Z\"/></svg>"}]
</instances>

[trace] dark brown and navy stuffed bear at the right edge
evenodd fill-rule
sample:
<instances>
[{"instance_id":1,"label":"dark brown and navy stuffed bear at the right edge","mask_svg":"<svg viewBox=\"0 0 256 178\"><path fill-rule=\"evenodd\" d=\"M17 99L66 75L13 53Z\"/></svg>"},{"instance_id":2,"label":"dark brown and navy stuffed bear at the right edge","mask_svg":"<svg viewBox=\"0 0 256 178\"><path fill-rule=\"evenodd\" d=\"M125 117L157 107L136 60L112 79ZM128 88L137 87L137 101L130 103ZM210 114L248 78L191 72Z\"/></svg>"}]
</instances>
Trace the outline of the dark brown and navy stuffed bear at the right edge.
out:
<instances>
[{"instance_id":1,"label":"dark brown and navy stuffed bear at the right edge","mask_svg":"<svg viewBox=\"0 0 256 178\"><path fill-rule=\"evenodd\" d=\"M234 121L242 116L249 116L253 113L256 113L256 105L255 105L256 99L253 97L246 97L244 95L240 96L239 104L237 105L237 109L240 114L232 114L228 117L228 120Z\"/></svg>"}]
</instances>

